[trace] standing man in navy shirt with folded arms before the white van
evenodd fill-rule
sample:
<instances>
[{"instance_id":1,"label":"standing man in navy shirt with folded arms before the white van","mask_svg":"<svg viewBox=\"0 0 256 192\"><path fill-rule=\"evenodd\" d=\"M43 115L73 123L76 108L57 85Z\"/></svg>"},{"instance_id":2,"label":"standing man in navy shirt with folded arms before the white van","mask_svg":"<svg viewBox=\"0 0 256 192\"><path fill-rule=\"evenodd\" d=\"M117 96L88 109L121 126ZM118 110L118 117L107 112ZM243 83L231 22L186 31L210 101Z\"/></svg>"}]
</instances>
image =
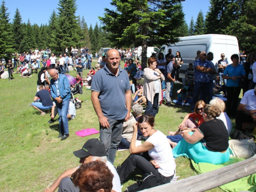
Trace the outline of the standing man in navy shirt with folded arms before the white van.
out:
<instances>
[{"instance_id":1,"label":"standing man in navy shirt with folded arms before the white van","mask_svg":"<svg viewBox=\"0 0 256 192\"><path fill-rule=\"evenodd\" d=\"M209 73L212 72L209 61L206 60L206 52L200 53L200 58L194 62L194 93L191 103L191 110L194 112L194 108L200 92L202 91L201 100L206 103L207 92L210 88Z\"/></svg>"}]
</instances>

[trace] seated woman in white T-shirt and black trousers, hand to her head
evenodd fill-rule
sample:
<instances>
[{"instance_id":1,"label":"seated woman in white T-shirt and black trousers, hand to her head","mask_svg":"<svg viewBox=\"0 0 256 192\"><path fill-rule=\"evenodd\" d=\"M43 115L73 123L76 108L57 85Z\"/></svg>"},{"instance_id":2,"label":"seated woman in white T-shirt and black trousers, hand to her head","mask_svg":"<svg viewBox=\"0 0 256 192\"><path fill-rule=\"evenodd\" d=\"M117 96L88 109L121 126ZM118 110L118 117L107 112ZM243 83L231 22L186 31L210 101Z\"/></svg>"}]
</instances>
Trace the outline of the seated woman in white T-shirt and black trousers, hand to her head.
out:
<instances>
[{"instance_id":1,"label":"seated woman in white T-shirt and black trousers, hand to her head","mask_svg":"<svg viewBox=\"0 0 256 192\"><path fill-rule=\"evenodd\" d=\"M172 148L165 135L155 130L155 119L143 115L133 126L134 132L130 144L130 155L117 170L121 183L138 167L143 173L154 174L157 178L169 183L174 177L175 162ZM135 146L137 130L144 137L149 137L142 145ZM142 155L140 155L143 153ZM151 160L152 159L152 160Z\"/></svg>"}]
</instances>

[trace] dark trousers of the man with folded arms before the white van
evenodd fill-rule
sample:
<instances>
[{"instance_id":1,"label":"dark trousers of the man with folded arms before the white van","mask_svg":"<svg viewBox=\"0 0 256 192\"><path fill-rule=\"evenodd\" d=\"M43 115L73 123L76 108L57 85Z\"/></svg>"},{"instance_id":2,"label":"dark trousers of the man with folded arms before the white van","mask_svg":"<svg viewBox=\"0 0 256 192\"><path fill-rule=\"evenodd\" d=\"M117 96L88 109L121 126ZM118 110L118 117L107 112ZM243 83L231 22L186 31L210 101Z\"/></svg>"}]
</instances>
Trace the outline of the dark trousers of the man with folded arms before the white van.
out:
<instances>
[{"instance_id":1,"label":"dark trousers of the man with folded arms before the white van","mask_svg":"<svg viewBox=\"0 0 256 192\"><path fill-rule=\"evenodd\" d=\"M209 89L210 89L210 82L195 81L193 99L192 99L192 103L191 103L191 110L194 110L198 96L201 91L202 91L202 96L200 99L203 100L205 103L207 103L206 96L207 96L207 92L209 91Z\"/></svg>"}]
</instances>

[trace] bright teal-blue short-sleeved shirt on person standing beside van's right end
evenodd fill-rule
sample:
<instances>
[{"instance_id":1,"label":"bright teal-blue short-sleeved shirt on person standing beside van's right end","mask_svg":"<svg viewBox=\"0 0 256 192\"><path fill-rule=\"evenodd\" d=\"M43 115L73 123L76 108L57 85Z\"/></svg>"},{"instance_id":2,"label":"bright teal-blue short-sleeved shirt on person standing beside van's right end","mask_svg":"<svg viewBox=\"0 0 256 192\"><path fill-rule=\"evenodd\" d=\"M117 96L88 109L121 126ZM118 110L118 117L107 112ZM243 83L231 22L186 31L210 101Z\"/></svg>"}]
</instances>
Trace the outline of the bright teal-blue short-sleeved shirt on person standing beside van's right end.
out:
<instances>
[{"instance_id":1,"label":"bright teal-blue short-sleeved shirt on person standing beside van's right end","mask_svg":"<svg viewBox=\"0 0 256 192\"><path fill-rule=\"evenodd\" d=\"M223 75L228 75L229 77L245 75L244 67L241 64L238 64L237 67L233 67L232 64L230 64L225 68ZM239 79L236 81L227 79L227 87L239 87Z\"/></svg>"}]
</instances>

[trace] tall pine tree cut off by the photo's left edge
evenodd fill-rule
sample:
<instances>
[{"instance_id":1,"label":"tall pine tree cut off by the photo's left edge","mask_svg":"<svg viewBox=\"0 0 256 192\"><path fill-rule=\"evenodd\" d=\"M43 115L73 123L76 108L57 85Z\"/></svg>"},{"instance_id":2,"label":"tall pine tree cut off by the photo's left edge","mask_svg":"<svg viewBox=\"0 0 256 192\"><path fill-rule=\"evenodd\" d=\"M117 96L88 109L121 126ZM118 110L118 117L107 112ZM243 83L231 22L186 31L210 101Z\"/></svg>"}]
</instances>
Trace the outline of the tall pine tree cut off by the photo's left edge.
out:
<instances>
[{"instance_id":1,"label":"tall pine tree cut off by the photo's left edge","mask_svg":"<svg viewBox=\"0 0 256 192\"><path fill-rule=\"evenodd\" d=\"M9 23L10 13L7 13L7 10L5 1L3 1L0 7L0 57L5 59L11 58L12 53L15 52L11 24Z\"/></svg>"}]
</instances>

